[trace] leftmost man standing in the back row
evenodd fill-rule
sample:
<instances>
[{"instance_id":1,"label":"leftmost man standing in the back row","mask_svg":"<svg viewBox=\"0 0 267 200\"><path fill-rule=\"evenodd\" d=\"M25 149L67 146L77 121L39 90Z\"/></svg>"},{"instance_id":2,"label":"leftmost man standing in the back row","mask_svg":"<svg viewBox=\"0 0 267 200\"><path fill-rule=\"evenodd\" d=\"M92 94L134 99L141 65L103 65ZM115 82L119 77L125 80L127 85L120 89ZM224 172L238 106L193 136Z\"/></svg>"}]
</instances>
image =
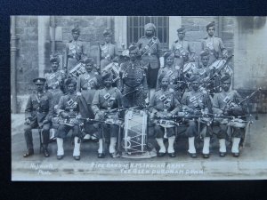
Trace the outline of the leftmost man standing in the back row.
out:
<instances>
[{"instance_id":1,"label":"leftmost man standing in the back row","mask_svg":"<svg viewBox=\"0 0 267 200\"><path fill-rule=\"evenodd\" d=\"M80 36L80 28L73 28L71 30L73 39L66 44L64 56L64 69L69 71L76 67L80 60L85 56L85 45L78 40Z\"/></svg>"}]
</instances>

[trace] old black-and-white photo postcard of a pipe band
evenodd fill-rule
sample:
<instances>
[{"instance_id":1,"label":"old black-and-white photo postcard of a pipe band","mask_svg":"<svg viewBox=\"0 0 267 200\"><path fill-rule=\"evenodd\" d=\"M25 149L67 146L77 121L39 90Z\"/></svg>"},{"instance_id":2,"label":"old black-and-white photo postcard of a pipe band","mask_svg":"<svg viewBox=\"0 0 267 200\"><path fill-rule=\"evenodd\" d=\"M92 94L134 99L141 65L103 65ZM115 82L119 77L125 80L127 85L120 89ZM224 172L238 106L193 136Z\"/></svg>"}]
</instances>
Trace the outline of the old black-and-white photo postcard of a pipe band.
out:
<instances>
[{"instance_id":1,"label":"old black-and-white photo postcard of a pipe band","mask_svg":"<svg viewBox=\"0 0 267 200\"><path fill-rule=\"evenodd\" d=\"M10 17L12 181L266 180L265 16Z\"/></svg>"}]
</instances>

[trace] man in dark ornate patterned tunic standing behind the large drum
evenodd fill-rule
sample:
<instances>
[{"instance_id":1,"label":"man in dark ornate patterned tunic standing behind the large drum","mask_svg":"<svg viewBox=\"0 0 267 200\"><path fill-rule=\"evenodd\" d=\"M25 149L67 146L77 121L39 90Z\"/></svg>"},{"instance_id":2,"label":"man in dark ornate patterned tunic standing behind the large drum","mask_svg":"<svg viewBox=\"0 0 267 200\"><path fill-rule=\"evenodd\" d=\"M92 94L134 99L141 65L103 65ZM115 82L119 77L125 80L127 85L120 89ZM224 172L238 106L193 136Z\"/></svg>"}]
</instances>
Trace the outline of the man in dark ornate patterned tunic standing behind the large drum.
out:
<instances>
[{"instance_id":1,"label":"man in dark ornate patterned tunic standing behind the large drum","mask_svg":"<svg viewBox=\"0 0 267 200\"><path fill-rule=\"evenodd\" d=\"M139 50L136 46L129 47L130 60L121 65L123 94L127 107L145 106L148 97L148 84L145 67L138 59Z\"/></svg>"}]
</instances>

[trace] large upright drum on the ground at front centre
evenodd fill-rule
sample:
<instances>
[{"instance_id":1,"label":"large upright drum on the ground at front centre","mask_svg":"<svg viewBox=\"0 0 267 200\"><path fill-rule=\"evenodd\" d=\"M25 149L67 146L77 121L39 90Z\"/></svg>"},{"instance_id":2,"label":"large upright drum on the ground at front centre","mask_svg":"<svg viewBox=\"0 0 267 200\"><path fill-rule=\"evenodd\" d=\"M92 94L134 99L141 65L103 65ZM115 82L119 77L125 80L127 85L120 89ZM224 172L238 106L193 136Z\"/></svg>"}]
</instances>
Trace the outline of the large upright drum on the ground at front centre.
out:
<instances>
[{"instance_id":1,"label":"large upright drum on the ground at front centre","mask_svg":"<svg viewBox=\"0 0 267 200\"><path fill-rule=\"evenodd\" d=\"M128 155L142 154L147 151L147 119L143 110L127 110L125 112L124 149Z\"/></svg>"}]
</instances>

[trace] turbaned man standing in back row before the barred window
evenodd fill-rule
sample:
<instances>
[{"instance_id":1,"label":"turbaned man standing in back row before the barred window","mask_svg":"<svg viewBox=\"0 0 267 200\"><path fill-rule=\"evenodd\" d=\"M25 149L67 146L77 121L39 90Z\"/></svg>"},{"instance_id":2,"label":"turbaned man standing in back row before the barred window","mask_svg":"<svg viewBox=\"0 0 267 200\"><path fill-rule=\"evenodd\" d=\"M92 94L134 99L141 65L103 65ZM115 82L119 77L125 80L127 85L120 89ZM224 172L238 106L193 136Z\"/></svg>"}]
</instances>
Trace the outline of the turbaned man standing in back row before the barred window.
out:
<instances>
[{"instance_id":1,"label":"turbaned man standing in back row before the barred window","mask_svg":"<svg viewBox=\"0 0 267 200\"><path fill-rule=\"evenodd\" d=\"M155 92L158 69L159 69L159 57L161 56L161 44L155 35L156 27L152 23L148 23L144 26L145 36L142 36L137 42L136 46L141 50L142 61L148 66L147 79L150 88L150 96ZM160 63L163 67L164 63Z\"/></svg>"}]
</instances>

